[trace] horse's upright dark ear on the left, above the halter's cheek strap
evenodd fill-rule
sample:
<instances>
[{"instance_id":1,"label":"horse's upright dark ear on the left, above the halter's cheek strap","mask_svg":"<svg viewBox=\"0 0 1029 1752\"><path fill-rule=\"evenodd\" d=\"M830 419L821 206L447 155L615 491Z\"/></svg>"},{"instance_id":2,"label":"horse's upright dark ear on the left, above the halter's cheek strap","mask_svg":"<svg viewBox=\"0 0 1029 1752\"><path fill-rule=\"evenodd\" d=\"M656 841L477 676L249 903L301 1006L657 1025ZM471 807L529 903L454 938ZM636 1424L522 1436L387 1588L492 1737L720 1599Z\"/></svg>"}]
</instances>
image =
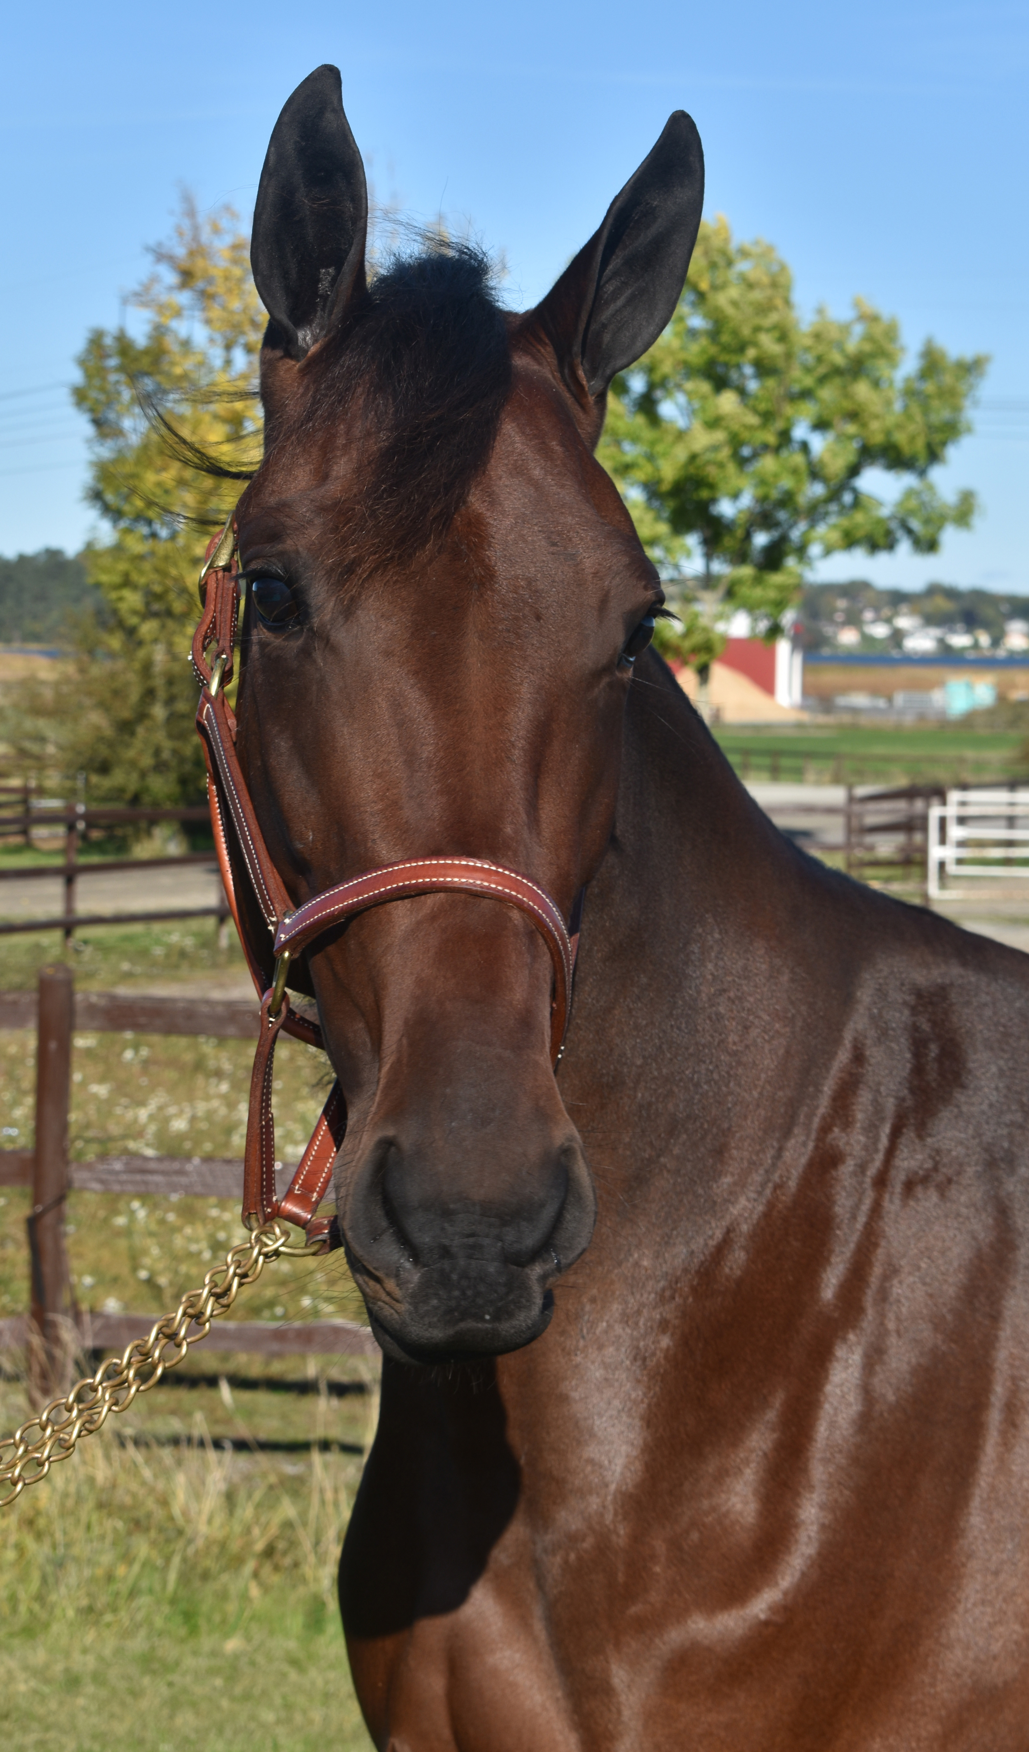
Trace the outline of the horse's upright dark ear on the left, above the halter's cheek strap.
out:
<instances>
[{"instance_id":1,"label":"horse's upright dark ear on the left, above the halter's cheek strap","mask_svg":"<svg viewBox=\"0 0 1029 1752\"><path fill-rule=\"evenodd\" d=\"M337 67L319 67L275 123L254 207L251 266L265 347L303 359L365 291L368 186Z\"/></svg>"}]
</instances>

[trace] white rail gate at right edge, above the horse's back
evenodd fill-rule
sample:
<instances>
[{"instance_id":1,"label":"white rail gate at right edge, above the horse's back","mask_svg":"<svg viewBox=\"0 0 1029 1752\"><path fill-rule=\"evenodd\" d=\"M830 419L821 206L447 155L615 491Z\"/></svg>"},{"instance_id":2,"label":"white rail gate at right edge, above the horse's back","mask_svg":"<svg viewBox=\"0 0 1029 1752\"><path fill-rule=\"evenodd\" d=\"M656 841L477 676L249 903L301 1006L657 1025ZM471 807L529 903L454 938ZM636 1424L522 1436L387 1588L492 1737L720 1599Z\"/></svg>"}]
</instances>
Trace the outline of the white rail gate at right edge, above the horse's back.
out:
<instances>
[{"instance_id":1,"label":"white rail gate at right edge, above the horse's back","mask_svg":"<svg viewBox=\"0 0 1029 1752\"><path fill-rule=\"evenodd\" d=\"M929 899L966 876L1029 876L1029 787L948 790L929 809ZM950 890L954 892L954 890Z\"/></svg>"}]
</instances>

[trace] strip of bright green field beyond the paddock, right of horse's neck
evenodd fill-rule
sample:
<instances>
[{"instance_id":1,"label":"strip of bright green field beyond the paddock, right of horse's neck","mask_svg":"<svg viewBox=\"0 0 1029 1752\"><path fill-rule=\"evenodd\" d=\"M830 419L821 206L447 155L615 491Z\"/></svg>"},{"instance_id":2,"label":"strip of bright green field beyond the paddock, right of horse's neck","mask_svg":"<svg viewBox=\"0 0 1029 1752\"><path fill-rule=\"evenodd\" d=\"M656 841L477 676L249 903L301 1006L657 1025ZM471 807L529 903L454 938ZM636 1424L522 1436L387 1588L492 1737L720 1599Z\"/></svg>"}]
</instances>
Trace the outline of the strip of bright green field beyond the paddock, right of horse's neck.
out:
<instances>
[{"instance_id":1,"label":"strip of bright green field beyond the paddock, right of horse's neck","mask_svg":"<svg viewBox=\"0 0 1029 1752\"><path fill-rule=\"evenodd\" d=\"M745 778L840 785L968 785L1029 781L1020 731L955 724L715 725L713 734Z\"/></svg>"}]
</instances>

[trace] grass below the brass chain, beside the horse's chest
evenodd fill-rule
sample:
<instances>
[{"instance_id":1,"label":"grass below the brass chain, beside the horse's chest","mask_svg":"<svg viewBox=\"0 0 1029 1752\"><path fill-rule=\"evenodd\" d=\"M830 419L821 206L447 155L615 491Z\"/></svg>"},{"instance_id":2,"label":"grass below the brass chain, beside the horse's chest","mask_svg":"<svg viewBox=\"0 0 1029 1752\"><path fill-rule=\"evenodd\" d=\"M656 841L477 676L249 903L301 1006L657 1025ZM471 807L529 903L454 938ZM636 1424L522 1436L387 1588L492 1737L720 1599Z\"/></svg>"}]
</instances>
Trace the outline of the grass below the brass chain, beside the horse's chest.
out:
<instances>
[{"instance_id":1,"label":"grass below the brass chain, beside the horse's chest","mask_svg":"<svg viewBox=\"0 0 1029 1752\"><path fill-rule=\"evenodd\" d=\"M219 1445L273 1407L161 1386L0 1522L4 1745L365 1752L335 1570L373 1396L289 1398L286 1452ZM182 1402L221 1403L221 1430ZM270 1398L251 1395L251 1398ZM0 1419L23 1410L4 1382ZM340 1416L337 1407L345 1407ZM356 1409L354 1409L356 1407ZM354 1440L356 1438L356 1440Z\"/></svg>"}]
</instances>

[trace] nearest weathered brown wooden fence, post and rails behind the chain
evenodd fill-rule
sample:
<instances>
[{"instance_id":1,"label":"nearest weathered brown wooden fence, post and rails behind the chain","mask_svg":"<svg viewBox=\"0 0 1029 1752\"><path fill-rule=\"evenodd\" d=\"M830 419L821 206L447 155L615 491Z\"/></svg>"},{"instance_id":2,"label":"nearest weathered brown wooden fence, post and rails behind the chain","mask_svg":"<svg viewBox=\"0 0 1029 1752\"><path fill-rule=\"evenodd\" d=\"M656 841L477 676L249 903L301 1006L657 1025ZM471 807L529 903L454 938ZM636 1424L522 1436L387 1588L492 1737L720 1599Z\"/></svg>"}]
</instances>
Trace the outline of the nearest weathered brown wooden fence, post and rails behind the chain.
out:
<instances>
[{"instance_id":1,"label":"nearest weathered brown wooden fence, post and rails behind the chain","mask_svg":"<svg viewBox=\"0 0 1029 1752\"><path fill-rule=\"evenodd\" d=\"M0 1349L30 1346L37 1395L61 1386L68 1340L81 1349L124 1349L154 1325L153 1314L81 1314L74 1307L65 1251L65 1198L70 1190L102 1193L193 1193L242 1197L244 1165L203 1156L96 1156L68 1160L72 1035L202 1034L256 1039L258 1006L251 999L131 997L75 993L68 967L46 967L37 992L0 992L0 1028L37 1028L35 1148L0 1151L0 1186L32 1186L28 1216L30 1307L0 1319ZM291 1169L277 1170L280 1188ZM323 1319L295 1326L226 1321L212 1328L209 1349L259 1351L263 1356L349 1354L375 1360L366 1326Z\"/></svg>"}]
</instances>

